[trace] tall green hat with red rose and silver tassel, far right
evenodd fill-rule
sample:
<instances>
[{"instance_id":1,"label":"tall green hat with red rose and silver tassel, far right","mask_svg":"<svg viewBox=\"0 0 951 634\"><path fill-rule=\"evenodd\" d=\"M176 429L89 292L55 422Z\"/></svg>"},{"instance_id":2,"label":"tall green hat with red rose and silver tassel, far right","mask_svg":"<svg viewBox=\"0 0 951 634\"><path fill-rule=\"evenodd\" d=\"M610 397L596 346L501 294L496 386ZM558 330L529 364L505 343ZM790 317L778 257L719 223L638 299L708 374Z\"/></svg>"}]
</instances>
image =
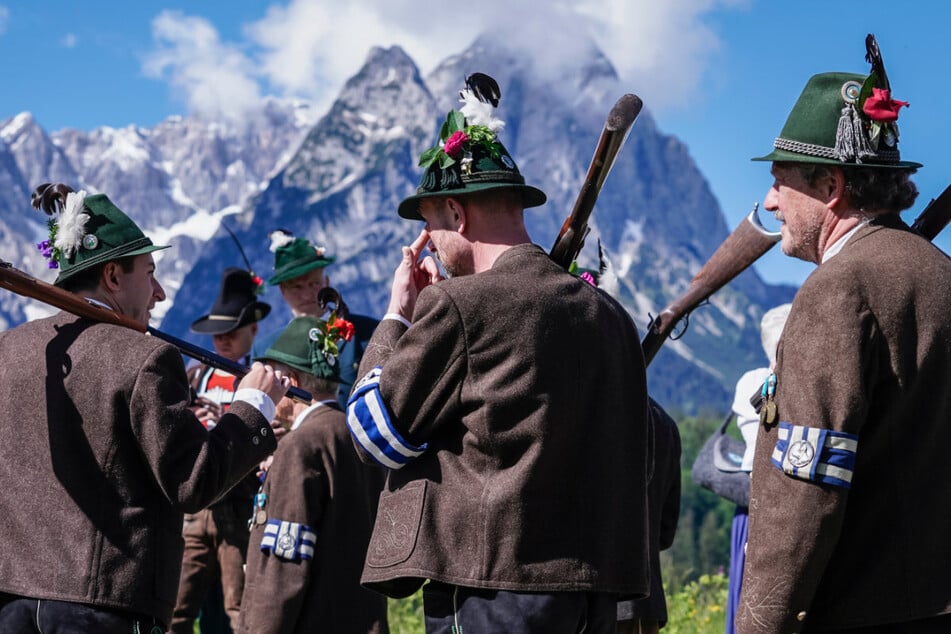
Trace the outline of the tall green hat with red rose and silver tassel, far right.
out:
<instances>
[{"instance_id":1,"label":"tall green hat with red rose and silver tassel, far right","mask_svg":"<svg viewBox=\"0 0 951 634\"><path fill-rule=\"evenodd\" d=\"M821 73L806 82L773 151L754 161L917 168L898 151L898 112L875 36L865 38L868 75Z\"/></svg>"}]
</instances>

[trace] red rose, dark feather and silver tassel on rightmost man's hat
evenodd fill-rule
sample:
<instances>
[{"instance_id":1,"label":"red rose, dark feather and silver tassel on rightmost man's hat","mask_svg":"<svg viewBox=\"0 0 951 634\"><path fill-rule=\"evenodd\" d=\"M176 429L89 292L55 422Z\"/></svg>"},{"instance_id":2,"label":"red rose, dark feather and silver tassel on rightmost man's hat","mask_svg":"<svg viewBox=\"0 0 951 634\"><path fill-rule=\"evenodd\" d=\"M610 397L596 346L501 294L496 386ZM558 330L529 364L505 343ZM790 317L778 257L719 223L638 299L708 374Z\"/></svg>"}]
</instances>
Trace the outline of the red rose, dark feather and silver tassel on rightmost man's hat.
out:
<instances>
[{"instance_id":1,"label":"red rose, dark feather and silver tassel on rightmost man's hat","mask_svg":"<svg viewBox=\"0 0 951 634\"><path fill-rule=\"evenodd\" d=\"M880 158L897 152L898 111L908 102L892 99L891 85L878 42L871 33L865 38L865 60L872 70L864 83L842 86L844 106L835 136L835 155L841 161Z\"/></svg>"}]
</instances>

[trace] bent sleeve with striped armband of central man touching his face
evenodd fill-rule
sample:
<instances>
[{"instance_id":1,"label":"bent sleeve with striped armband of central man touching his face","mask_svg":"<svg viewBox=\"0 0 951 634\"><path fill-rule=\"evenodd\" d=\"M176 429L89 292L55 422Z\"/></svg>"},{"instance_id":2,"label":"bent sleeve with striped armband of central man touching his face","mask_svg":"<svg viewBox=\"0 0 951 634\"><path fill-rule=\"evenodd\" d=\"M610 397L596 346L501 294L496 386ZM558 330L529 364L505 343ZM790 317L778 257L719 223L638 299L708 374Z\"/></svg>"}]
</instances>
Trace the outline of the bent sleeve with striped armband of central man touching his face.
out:
<instances>
[{"instance_id":1,"label":"bent sleeve with striped armband of central man touching his face","mask_svg":"<svg viewBox=\"0 0 951 634\"><path fill-rule=\"evenodd\" d=\"M449 295L430 286L419 295L408 329L377 327L347 406L347 426L361 458L399 469L426 451L446 420L458 420L467 372L466 332Z\"/></svg>"}]
</instances>

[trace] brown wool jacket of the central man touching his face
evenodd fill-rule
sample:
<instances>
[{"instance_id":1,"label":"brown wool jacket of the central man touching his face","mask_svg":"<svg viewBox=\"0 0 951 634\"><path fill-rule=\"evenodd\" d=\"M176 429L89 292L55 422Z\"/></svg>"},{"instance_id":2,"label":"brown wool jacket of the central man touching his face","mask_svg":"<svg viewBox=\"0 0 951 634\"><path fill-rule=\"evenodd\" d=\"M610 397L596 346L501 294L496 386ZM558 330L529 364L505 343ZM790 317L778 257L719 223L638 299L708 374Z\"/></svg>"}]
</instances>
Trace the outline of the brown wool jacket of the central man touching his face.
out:
<instances>
[{"instance_id":1,"label":"brown wool jacket of the central man touching his face","mask_svg":"<svg viewBox=\"0 0 951 634\"><path fill-rule=\"evenodd\" d=\"M389 472L364 584L648 592L647 389L620 304L515 246L424 289L409 329L381 322L376 366L348 407L358 449L378 393L420 452Z\"/></svg>"}]
</instances>

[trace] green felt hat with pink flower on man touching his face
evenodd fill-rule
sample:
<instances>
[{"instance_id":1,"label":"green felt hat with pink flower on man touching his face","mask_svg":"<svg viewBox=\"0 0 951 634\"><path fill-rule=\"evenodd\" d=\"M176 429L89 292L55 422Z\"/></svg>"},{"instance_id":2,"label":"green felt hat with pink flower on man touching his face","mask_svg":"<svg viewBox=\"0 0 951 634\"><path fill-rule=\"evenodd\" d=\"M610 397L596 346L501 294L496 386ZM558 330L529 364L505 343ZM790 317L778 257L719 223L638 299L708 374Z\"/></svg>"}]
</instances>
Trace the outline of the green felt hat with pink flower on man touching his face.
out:
<instances>
[{"instance_id":1,"label":"green felt hat with pink flower on man touching his face","mask_svg":"<svg viewBox=\"0 0 951 634\"><path fill-rule=\"evenodd\" d=\"M401 217L423 220L419 215L423 198L498 189L520 191L525 207L545 204L545 192L525 184L512 156L490 128L470 125L462 112L451 110L439 138L439 143L420 156L419 164L426 171L416 194L400 203L397 213Z\"/></svg>"}]
</instances>

